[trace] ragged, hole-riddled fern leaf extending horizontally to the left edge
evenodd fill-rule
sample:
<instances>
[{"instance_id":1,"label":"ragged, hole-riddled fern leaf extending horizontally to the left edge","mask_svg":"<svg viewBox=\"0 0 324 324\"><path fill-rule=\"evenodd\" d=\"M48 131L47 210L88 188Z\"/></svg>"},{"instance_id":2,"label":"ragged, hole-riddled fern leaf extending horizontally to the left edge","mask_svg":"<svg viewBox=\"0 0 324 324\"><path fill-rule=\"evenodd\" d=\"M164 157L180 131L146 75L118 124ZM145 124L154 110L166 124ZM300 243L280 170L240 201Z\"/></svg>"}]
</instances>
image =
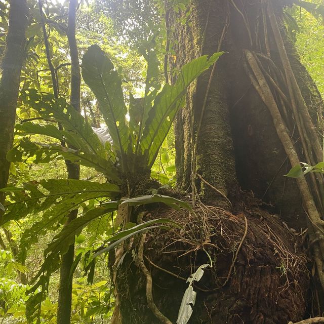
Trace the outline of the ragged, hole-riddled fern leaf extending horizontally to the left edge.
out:
<instances>
[{"instance_id":1,"label":"ragged, hole-riddled fern leaf extending horizontally to the left edge","mask_svg":"<svg viewBox=\"0 0 324 324\"><path fill-rule=\"evenodd\" d=\"M10 200L14 203L6 204L7 211L2 223L21 219L28 214L43 214L22 234L18 256L20 261L26 258L28 248L37 242L38 237L61 226L68 213L77 206L91 199L119 194L116 185L74 179L25 183L22 189L11 193Z\"/></svg>"}]
</instances>

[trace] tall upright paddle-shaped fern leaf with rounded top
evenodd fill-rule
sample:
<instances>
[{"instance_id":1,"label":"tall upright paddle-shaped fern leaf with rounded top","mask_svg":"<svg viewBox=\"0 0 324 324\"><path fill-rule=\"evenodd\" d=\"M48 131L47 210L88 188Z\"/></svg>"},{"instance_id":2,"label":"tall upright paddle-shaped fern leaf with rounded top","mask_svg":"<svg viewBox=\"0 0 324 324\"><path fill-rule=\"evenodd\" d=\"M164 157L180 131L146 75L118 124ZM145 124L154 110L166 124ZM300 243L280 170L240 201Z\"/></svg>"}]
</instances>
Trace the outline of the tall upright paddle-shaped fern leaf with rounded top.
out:
<instances>
[{"instance_id":1,"label":"tall upright paddle-shaped fern leaf with rounded top","mask_svg":"<svg viewBox=\"0 0 324 324\"><path fill-rule=\"evenodd\" d=\"M121 163L130 147L130 131L126 125L127 108L121 89L121 78L99 46L88 48L82 59L82 76L99 102L99 109L109 129L113 147Z\"/></svg>"}]
</instances>

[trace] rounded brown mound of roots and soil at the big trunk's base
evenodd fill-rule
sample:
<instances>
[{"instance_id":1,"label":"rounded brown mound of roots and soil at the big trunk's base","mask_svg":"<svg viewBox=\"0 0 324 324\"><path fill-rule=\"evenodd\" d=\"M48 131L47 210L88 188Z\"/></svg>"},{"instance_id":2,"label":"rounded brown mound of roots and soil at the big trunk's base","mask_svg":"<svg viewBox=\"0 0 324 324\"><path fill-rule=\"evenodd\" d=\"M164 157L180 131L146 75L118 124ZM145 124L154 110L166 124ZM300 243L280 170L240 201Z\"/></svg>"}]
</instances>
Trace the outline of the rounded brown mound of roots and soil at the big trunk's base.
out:
<instances>
[{"instance_id":1,"label":"rounded brown mound of roots and soil at the big trunk's base","mask_svg":"<svg viewBox=\"0 0 324 324\"><path fill-rule=\"evenodd\" d=\"M197 298L189 323L287 324L303 318L307 259L276 216L260 209L233 215L200 204L194 212L154 209L146 220L160 217L183 226L150 232L144 250L154 302L173 323L186 278L210 262L212 267L194 286ZM147 306L136 242L117 274L123 323L159 323Z\"/></svg>"}]
</instances>

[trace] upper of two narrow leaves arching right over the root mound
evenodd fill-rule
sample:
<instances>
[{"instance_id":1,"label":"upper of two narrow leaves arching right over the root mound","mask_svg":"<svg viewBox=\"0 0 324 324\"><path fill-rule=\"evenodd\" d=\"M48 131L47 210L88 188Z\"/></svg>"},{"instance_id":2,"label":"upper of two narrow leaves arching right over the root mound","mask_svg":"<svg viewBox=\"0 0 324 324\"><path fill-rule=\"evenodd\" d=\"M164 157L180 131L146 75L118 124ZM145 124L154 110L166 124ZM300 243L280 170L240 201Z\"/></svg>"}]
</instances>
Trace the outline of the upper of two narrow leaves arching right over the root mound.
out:
<instances>
[{"instance_id":1,"label":"upper of two narrow leaves arching right over the root mound","mask_svg":"<svg viewBox=\"0 0 324 324\"><path fill-rule=\"evenodd\" d=\"M121 203L121 205L128 204L129 206L140 206L153 203L164 203L177 210L180 210L181 207L189 211L192 210L190 204L186 203L185 201L161 194L152 194L126 199L123 201L123 203Z\"/></svg>"}]
</instances>

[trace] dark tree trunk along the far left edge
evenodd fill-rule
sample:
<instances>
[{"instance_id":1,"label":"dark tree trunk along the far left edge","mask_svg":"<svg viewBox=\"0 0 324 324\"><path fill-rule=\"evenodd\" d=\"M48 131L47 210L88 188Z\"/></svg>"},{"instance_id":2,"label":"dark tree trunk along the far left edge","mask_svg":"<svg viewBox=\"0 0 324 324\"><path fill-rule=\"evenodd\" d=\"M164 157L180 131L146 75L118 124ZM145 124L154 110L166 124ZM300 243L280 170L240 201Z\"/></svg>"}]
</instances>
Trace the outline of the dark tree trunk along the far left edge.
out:
<instances>
[{"instance_id":1,"label":"dark tree trunk along the far left edge","mask_svg":"<svg viewBox=\"0 0 324 324\"><path fill-rule=\"evenodd\" d=\"M20 75L25 60L25 31L28 21L28 8L25 0L11 0L9 11L9 28L6 51L2 61L2 77L0 80L0 188L7 185L10 162L6 155L12 148L14 127L16 121L17 100L19 94ZM0 192L0 204L3 204L5 194ZM0 221L3 211L0 209ZM11 240L11 233L4 229L9 246L14 256L18 249ZM27 284L26 275L18 271L22 284Z\"/></svg>"}]
</instances>

